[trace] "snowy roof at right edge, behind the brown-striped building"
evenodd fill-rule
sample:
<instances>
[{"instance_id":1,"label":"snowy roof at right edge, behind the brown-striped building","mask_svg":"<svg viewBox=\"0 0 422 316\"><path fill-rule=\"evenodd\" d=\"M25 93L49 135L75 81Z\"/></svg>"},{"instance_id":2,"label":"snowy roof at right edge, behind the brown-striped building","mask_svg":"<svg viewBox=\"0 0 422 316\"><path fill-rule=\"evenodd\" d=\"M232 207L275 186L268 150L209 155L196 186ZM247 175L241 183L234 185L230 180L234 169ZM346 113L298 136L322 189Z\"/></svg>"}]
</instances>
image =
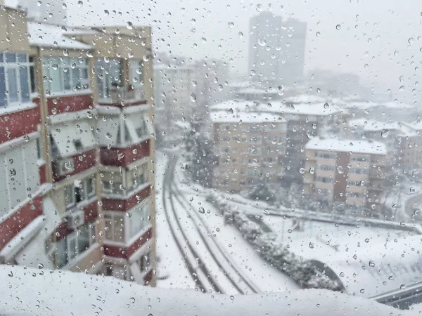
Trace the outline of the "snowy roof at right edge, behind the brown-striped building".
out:
<instances>
[{"instance_id":1,"label":"snowy roof at right edge, behind the brown-striped building","mask_svg":"<svg viewBox=\"0 0 422 316\"><path fill-rule=\"evenodd\" d=\"M383 121L376 121L374 119L352 119L349 121L349 126L351 128L357 127L358 129L362 129L363 131L397 131L397 136L417 136L415 129L403 124L399 121L391 121L391 122L383 122ZM422 126L421 126L422 127Z\"/></svg>"}]
</instances>

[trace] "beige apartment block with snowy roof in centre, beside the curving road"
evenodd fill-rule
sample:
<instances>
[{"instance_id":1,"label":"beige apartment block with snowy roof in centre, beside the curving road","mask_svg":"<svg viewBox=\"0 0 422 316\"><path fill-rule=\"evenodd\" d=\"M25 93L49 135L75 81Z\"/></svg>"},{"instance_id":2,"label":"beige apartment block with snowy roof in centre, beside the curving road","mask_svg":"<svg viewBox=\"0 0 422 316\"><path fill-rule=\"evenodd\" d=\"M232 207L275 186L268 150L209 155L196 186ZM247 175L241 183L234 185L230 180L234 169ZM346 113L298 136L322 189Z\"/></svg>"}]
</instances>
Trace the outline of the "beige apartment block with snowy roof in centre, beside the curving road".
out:
<instances>
[{"instance_id":1,"label":"beige apartment block with snowy roof in centre, beside the curving road","mask_svg":"<svg viewBox=\"0 0 422 316\"><path fill-rule=\"evenodd\" d=\"M212 186L238 192L279 178L286 151L286 121L257 112L212 111Z\"/></svg>"}]
</instances>

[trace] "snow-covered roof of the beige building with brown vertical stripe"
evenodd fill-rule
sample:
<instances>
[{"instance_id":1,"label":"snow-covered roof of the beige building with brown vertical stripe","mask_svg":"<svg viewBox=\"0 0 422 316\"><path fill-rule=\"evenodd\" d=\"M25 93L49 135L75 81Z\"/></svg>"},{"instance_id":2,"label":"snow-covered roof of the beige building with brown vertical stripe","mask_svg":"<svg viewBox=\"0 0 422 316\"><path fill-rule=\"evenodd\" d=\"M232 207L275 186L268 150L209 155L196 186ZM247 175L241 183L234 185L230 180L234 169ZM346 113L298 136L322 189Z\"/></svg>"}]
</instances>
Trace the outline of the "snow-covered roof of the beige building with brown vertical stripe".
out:
<instances>
[{"instance_id":1,"label":"snow-covered roof of the beige building with brown vertical stripe","mask_svg":"<svg viewBox=\"0 0 422 316\"><path fill-rule=\"evenodd\" d=\"M305 145L307 150L329 150L361 154L387 154L383 143L371 140L347 140L340 138L312 138Z\"/></svg>"}]
</instances>

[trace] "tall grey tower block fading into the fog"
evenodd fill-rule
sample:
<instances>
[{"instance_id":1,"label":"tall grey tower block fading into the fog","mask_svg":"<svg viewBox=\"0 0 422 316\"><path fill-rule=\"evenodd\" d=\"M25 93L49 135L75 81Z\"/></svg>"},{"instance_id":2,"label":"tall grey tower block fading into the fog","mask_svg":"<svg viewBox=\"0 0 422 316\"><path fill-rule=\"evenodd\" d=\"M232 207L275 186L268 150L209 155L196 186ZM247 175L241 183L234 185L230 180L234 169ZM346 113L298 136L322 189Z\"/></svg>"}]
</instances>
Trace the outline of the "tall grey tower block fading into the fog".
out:
<instances>
[{"instance_id":1,"label":"tall grey tower block fading into the fog","mask_svg":"<svg viewBox=\"0 0 422 316\"><path fill-rule=\"evenodd\" d=\"M249 72L255 81L293 86L302 81L307 27L305 22L261 12L249 22Z\"/></svg>"}]
</instances>

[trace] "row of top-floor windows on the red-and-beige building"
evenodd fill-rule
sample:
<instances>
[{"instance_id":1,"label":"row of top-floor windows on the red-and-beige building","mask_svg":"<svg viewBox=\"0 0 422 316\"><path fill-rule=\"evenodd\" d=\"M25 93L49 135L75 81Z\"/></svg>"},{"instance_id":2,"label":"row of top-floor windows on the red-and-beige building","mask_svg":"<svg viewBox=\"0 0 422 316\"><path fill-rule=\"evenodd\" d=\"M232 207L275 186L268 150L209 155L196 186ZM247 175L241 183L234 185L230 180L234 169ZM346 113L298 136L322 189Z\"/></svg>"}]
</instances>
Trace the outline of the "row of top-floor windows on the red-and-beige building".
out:
<instances>
[{"instance_id":1,"label":"row of top-floor windows on the red-and-beige building","mask_svg":"<svg viewBox=\"0 0 422 316\"><path fill-rule=\"evenodd\" d=\"M132 88L142 82L141 61L129 62ZM65 93L89 89L89 67L86 58L46 57L42 65L46 93ZM122 60L97 60L99 98L110 98L113 89L122 84ZM36 92L33 58L25 53L0 53L0 107L31 101Z\"/></svg>"}]
</instances>

